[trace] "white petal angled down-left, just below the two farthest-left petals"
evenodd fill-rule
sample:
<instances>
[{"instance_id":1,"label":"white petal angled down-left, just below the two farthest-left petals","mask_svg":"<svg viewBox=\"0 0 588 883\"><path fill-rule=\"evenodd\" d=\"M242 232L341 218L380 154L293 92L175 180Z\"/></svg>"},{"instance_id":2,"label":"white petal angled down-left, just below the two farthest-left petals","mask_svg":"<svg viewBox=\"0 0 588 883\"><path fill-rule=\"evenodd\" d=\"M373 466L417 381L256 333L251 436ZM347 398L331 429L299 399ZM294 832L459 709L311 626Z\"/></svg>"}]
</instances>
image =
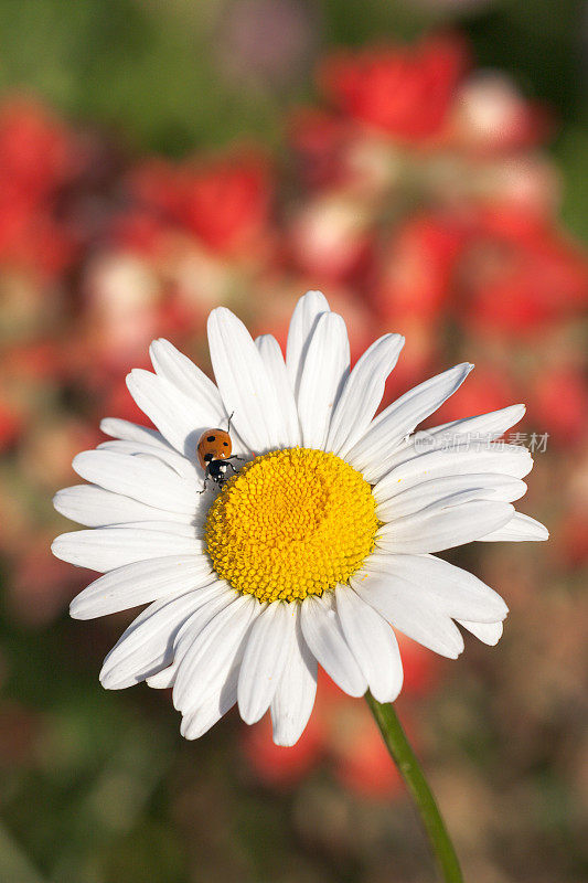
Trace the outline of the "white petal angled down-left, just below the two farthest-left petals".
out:
<instances>
[{"instance_id":1,"label":"white petal angled down-left, just below the two farthest-left petals","mask_svg":"<svg viewBox=\"0 0 588 883\"><path fill-rule=\"evenodd\" d=\"M216 581L205 555L178 555L138 561L90 583L71 606L74 619L118 613L172 595L183 595Z\"/></svg>"}]
</instances>

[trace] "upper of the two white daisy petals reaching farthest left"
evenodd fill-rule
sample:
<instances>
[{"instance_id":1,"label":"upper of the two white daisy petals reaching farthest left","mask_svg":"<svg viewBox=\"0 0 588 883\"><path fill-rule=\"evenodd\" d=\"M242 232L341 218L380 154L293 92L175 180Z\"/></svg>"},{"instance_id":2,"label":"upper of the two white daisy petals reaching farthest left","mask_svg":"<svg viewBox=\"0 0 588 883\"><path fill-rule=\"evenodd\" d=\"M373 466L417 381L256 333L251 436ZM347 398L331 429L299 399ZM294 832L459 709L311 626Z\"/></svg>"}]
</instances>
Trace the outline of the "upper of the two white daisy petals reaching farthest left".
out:
<instances>
[{"instance_id":1,"label":"upper of the two white daisy petals reaching farthest left","mask_svg":"<svg viewBox=\"0 0 588 883\"><path fill-rule=\"evenodd\" d=\"M192 524L194 521L193 513L182 515L180 512L153 509L152 506L98 488L96 485L74 485L72 488L58 490L53 498L53 506L65 518L87 528L152 521L156 518L160 521L183 521L184 524Z\"/></svg>"}]
</instances>

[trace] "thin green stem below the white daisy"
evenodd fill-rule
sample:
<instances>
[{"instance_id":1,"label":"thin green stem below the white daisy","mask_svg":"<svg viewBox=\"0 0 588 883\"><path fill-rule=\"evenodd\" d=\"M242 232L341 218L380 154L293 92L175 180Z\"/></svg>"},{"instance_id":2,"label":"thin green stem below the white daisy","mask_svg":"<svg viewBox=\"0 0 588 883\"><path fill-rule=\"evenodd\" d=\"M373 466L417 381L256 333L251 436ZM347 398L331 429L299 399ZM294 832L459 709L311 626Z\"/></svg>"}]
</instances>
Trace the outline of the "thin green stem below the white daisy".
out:
<instances>
[{"instance_id":1,"label":"thin green stem below the white daisy","mask_svg":"<svg viewBox=\"0 0 588 883\"><path fill-rule=\"evenodd\" d=\"M396 716L394 706L392 703L381 704L371 693L366 693L365 698L384 737L386 747L418 807L423 825L441 872L441 880L445 883L463 883L463 875L456 850L447 833L447 828L432 791Z\"/></svg>"}]
</instances>

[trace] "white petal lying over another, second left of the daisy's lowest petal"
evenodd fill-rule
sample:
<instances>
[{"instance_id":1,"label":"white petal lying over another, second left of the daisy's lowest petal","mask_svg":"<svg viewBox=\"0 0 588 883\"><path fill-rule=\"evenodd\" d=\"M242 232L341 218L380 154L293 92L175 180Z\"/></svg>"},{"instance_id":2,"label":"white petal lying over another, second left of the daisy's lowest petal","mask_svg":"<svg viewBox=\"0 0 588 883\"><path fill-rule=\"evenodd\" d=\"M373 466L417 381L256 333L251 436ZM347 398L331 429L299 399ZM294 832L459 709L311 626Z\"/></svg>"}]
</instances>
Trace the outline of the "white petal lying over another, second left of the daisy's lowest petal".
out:
<instances>
[{"instance_id":1,"label":"white petal lying over another, second left of the daisy's lowest petal","mask_svg":"<svg viewBox=\"0 0 588 883\"><path fill-rule=\"evenodd\" d=\"M207 623L181 661L173 687L173 704L183 714L196 709L217 683L224 683L247 632L263 606L252 595L235 600Z\"/></svg>"}]
</instances>

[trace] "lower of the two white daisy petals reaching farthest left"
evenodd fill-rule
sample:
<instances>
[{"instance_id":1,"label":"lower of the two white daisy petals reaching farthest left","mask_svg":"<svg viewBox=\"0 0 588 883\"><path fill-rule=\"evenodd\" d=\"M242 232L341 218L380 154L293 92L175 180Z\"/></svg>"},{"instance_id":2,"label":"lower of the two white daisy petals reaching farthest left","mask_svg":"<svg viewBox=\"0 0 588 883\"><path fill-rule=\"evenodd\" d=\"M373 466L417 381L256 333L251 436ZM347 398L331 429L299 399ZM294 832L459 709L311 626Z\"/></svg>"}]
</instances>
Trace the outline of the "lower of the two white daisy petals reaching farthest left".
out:
<instances>
[{"instance_id":1,"label":"lower of the two white daisy petals reaching farthest left","mask_svg":"<svg viewBox=\"0 0 588 883\"><path fill-rule=\"evenodd\" d=\"M53 541L55 557L106 573L136 561L168 555L194 555L202 552L200 540L174 536L160 531L95 528L90 531L62 533Z\"/></svg>"}]
</instances>

